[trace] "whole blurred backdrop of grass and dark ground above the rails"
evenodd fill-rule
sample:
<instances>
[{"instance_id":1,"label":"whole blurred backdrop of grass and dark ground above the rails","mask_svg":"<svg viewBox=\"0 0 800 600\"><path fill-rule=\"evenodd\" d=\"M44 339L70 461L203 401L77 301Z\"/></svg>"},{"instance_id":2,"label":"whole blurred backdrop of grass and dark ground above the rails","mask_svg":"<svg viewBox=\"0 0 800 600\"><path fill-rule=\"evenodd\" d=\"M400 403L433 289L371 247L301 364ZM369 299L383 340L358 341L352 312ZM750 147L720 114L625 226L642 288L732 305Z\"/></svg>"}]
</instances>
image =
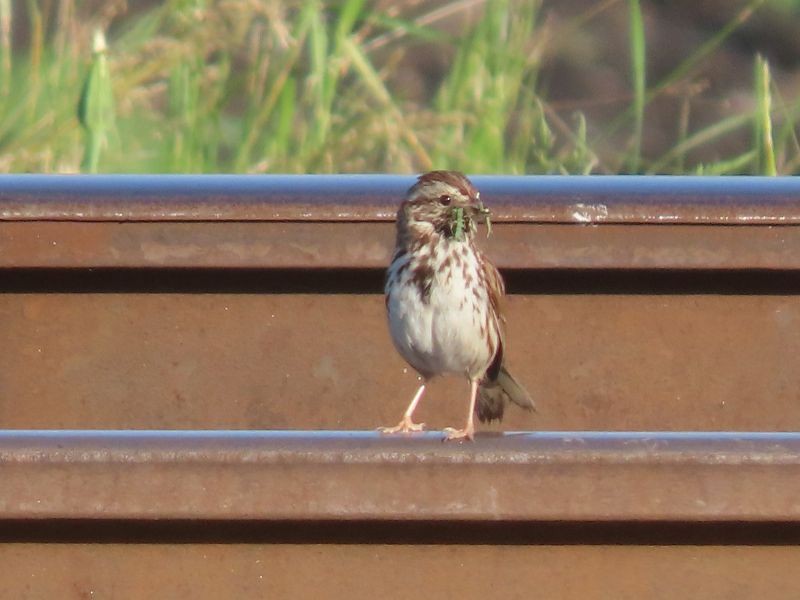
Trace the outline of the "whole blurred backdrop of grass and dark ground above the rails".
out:
<instances>
[{"instance_id":1,"label":"whole blurred backdrop of grass and dark ground above the rails","mask_svg":"<svg viewBox=\"0 0 800 600\"><path fill-rule=\"evenodd\" d=\"M0 171L794 173L798 3L694 5L0 0Z\"/></svg>"}]
</instances>

